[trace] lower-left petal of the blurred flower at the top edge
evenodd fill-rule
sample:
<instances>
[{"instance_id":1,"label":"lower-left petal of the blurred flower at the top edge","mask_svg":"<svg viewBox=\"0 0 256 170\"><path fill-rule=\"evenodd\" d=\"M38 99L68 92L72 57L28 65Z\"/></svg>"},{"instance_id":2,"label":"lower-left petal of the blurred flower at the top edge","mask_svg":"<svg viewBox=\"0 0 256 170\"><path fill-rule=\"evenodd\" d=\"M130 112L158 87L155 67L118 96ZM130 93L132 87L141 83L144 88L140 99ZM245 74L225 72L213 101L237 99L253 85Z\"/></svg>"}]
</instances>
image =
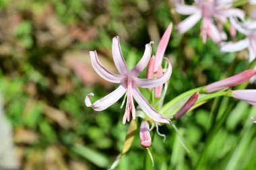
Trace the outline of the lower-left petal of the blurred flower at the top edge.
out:
<instances>
[{"instance_id":1,"label":"lower-left petal of the blurred flower at the top edge","mask_svg":"<svg viewBox=\"0 0 256 170\"><path fill-rule=\"evenodd\" d=\"M177 26L179 33L184 34L190 30L199 20L201 19L201 12L196 12L193 15L190 15Z\"/></svg>"}]
</instances>

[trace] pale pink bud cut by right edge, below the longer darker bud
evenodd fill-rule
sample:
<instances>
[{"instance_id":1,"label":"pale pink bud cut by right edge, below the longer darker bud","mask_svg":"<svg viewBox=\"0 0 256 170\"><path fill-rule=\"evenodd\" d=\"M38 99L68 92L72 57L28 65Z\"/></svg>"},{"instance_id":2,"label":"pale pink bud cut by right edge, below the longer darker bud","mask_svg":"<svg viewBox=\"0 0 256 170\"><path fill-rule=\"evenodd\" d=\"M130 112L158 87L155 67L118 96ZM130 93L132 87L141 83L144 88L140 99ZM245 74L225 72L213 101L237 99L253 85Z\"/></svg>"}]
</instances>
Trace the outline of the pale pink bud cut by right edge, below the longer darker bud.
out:
<instances>
[{"instance_id":1,"label":"pale pink bud cut by right edge, below the longer darker bud","mask_svg":"<svg viewBox=\"0 0 256 170\"><path fill-rule=\"evenodd\" d=\"M255 89L234 90L232 91L232 97L236 99L241 99L251 105L256 105Z\"/></svg>"}]
</instances>

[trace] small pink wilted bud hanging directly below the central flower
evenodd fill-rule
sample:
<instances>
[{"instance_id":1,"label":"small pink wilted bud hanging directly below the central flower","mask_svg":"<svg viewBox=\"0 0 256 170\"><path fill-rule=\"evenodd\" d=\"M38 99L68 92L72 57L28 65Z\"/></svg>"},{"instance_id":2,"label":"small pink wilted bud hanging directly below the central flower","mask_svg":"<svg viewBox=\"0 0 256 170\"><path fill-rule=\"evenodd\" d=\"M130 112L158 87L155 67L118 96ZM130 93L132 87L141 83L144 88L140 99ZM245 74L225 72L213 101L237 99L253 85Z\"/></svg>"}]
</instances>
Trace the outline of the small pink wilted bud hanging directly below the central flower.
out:
<instances>
[{"instance_id":1,"label":"small pink wilted bud hanging directly below the central flower","mask_svg":"<svg viewBox=\"0 0 256 170\"><path fill-rule=\"evenodd\" d=\"M141 122L139 130L140 144L143 148L148 148L151 146L151 136L150 136L150 125L146 120Z\"/></svg>"}]
</instances>

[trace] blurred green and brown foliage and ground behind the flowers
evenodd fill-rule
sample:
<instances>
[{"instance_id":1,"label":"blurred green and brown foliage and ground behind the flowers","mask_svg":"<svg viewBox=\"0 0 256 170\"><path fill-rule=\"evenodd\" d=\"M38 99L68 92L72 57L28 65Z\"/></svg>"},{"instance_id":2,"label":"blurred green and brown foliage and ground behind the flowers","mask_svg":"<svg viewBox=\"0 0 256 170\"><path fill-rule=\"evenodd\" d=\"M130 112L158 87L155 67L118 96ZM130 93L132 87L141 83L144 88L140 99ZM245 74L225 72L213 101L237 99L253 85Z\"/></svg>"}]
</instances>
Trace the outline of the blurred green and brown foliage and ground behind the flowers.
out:
<instances>
[{"instance_id":1,"label":"blurred green and brown foliage and ground behind the flowers","mask_svg":"<svg viewBox=\"0 0 256 170\"><path fill-rule=\"evenodd\" d=\"M249 5L240 7L247 13L251 10ZM84 99L90 92L99 99L117 87L96 74L89 56L90 50L97 50L103 65L117 73L111 53L113 36L120 36L131 69L145 44L154 40L155 54L164 30L170 22L174 24L166 49L173 66L166 101L249 69L246 50L221 54L212 40L203 44L200 24L185 35L178 34L175 26L184 18L175 13L171 1L0 0L0 90L10 125L6 125L7 134L0 134L1 145L7 138L11 145L13 137L13 146L0 148L0 164L12 152L8 148L17 159L2 169L110 167L123 149L129 127L121 122L123 98L102 112L87 108ZM143 71L141 77L145 75ZM146 90L141 91L149 97ZM117 169L255 169L256 126L251 116L256 116L256 108L247 103L214 99L174 123L190 153L172 126L161 126L167 138L163 142L152 134L152 167L137 130Z\"/></svg>"}]
</instances>

